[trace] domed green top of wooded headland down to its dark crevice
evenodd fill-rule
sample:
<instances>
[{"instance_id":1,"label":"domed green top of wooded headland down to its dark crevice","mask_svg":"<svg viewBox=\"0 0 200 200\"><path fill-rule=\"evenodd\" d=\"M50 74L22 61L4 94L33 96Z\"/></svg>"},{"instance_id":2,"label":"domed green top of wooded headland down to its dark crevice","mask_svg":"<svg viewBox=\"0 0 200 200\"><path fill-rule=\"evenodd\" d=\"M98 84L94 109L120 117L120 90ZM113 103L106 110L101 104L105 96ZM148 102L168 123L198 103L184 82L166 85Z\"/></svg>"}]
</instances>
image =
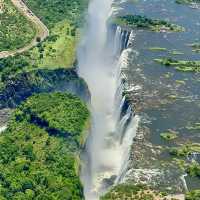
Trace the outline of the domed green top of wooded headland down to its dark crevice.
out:
<instances>
[{"instance_id":1,"label":"domed green top of wooded headland down to its dark crevice","mask_svg":"<svg viewBox=\"0 0 200 200\"><path fill-rule=\"evenodd\" d=\"M44 93L30 97L19 106L15 116L18 120L25 117L30 122L35 121L52 134L73 138L80 146L89 113L79 98L71 94Z\"/></svg>"}]
</instances>

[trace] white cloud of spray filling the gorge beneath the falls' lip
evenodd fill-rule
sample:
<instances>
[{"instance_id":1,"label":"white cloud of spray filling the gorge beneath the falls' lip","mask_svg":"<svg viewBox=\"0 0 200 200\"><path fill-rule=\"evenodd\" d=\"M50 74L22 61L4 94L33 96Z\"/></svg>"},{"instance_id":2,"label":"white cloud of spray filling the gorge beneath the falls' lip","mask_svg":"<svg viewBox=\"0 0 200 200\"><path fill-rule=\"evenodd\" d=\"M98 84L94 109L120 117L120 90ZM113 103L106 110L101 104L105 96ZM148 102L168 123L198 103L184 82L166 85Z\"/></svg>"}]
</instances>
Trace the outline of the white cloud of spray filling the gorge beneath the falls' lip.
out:
<instances>
[{"instance_id":1,"label":"white cloud of spray filling the gorge beneath the falls' lip","mask_svg":"<svg viewBox=\"0 0 200 200\"><path fill-rule=\"evenodd\" d=\"M106 48L109 46L106 44L107 20L111 5L112 0L91 0L87 30L78 51L79 75L85 79L91 92L92 130L86 147L85 166L82 168L86 200L99 199L109 183L114 183L124 162L123 152L127 151L123 151L127 147L118 136L119 130L116 130L119 120L119 116L116 116L119 65L111 55L120 51L118 29L113 49ZM134 129L129 128L127 136L132 136L133 132ZM125 141L130 143L131 138Z\"/></svg>"}]
</instances>

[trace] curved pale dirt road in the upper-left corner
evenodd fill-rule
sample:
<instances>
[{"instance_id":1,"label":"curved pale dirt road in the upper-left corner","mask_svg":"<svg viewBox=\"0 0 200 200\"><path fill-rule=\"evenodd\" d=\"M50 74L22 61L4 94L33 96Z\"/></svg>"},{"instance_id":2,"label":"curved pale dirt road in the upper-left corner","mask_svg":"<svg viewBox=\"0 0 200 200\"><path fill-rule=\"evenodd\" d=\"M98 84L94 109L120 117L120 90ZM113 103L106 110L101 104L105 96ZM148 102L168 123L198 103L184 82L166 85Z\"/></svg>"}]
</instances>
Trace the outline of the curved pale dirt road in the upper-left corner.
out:
<instances>
[{"instance_id":1,"label":"curved pale dirt road in the upper-left corner","mask_svg":"<svg viewBox=\"0 0 200 200\"><path fill-rule=\"evenodd\" d=\"M28 51L35 45L37 45L36 38L40 37L41 41L43 41L48 35L49 30L48 28L42 23L42 21L26 6L26 4L22 0L11 0L12 3L17 7L17 9L28 18L31 22L35 24L37 28L37 33L35 38L31 41L31 43L27 44L26 46L13 50L13 51L2 51L0 52L0 58L6 58L8 56L14 56L17 53L23 53Z\"/></svg>"}]
</instances>

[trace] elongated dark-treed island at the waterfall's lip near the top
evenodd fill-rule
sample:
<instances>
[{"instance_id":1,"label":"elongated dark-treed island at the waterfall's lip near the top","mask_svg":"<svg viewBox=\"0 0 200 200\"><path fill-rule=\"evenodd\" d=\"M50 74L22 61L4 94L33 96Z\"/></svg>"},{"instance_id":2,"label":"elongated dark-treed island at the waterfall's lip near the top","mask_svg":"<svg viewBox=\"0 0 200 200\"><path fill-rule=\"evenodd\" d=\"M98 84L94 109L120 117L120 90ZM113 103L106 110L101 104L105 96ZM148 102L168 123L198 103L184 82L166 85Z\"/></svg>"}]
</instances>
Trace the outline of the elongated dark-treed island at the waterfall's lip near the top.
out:
<instances>
[{"instance_id":1,"label":"elongated dark-treed island at the waterfall's lip near the top","mask_svg":"<svg viewBox=\"0 0 200 200\"><path fill-rule=\"evenodd\" d=\"M113 20L113 22L120 26L130 28L143 28L151 31L167 31L167 32L180 32L184 31L184 28L176 24L158 19L149 19L140 15L126 15L120 16Z\"/></svg>"}]
</instances>

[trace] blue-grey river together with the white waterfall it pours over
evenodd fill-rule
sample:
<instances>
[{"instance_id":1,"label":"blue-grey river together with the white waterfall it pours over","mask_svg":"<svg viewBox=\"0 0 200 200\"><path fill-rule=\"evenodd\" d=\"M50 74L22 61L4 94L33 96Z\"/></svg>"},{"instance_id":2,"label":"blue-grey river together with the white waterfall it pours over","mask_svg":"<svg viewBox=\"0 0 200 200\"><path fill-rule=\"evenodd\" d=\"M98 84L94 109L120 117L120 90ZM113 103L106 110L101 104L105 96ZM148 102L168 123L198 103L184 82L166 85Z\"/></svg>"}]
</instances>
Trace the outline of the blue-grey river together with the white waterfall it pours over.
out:
<instances>
[{"instance_id":1,"label":"blue-grey river together with the white waterfall it pours over","mask_svg":"<svg viewBox=\"0 0 200 200\"><path fill-rule=\"evenodd\" d=\"M199 41L200 12L174 0L115 3L114 8L111 0L90 2L87 26L78 50L79 74L91 92L92 127L82 168L86 200L99 199L122 179L154 185L170 193L184 192L185 184L189 189L196 189L199 180L188 176L187 183L183 183L185 173L178 169L166 149L199 142L197 131L188 130L187 126L199 119L200 77L166 68L153 60L200 59L200 54L188 46ZM185 27L186 31L127 32L109 24L108 19L116 13L168 20ZM166 50L150 51L151 47ZM129 93L132 105L124 106L124 91ZM133 142L138 128L143 131L142 136ZM160 137L168 130L177 133L175 141ZM172 185L177 187L171 188Z\"/></svg>"}]
</instances>

